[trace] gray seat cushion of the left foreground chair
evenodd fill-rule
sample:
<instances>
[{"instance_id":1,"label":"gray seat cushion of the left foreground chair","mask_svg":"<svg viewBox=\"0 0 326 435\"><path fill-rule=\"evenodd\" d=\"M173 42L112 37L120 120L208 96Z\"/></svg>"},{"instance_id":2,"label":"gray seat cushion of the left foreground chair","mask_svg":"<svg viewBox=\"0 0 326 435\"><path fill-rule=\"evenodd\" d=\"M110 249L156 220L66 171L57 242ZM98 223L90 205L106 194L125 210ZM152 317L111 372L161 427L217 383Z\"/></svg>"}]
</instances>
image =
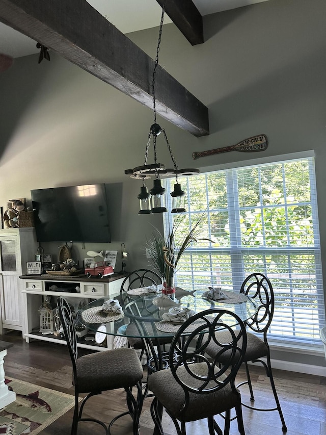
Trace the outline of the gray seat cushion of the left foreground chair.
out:
<instances>
[{"instance_id":1,"label":"gray seat cushion of the left foreground chair","mask_svg":"<svg viewBox=\"0 0 326 435\"><path fill-rule=\"evenodd\" d=\"M76 361L78 393L132 387L143 378L139 356L130 348L99 351Z\"/></svg>"}]
</instances>

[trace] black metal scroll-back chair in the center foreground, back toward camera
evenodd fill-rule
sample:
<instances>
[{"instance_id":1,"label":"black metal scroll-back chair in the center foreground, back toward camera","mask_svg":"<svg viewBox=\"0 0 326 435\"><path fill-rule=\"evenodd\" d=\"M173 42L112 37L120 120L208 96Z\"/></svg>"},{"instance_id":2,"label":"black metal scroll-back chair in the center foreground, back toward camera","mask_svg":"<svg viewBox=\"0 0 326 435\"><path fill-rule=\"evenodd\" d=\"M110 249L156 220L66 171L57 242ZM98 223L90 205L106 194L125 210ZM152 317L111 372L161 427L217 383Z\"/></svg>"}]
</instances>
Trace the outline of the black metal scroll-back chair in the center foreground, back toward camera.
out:
<instances>
[{"instance_id":1,"label":"black metal scroll-back chair in the center foreground, back toward camera","mask_svg":"<svg viewBox=\"0 0 326 435\"><path fill-rule=\"evenodd\" d=\"M227 334L223 341L216 333L221 329ZM186 330L189 334L184 336ZM221 348L212 359L205 354L210 341ZM201 419L207 419L210 435L215 431L222 434L221 427L214 421L214 416L221 413L225 413L224 434L228 435L231 410L235 408L238 430L244 435L241 397L235 377L246 345L246 326L236 314L223 309L203 311L181 324L170 346L170 361L173 361L170 368L152 373L148 378L149 389L155 396L151 415L156 432L164 433L161 416L165 408L178 435L186 434L187 422ZM225 356L224 363L218 360L221 355Z\"/></svg>"}]
</instances>

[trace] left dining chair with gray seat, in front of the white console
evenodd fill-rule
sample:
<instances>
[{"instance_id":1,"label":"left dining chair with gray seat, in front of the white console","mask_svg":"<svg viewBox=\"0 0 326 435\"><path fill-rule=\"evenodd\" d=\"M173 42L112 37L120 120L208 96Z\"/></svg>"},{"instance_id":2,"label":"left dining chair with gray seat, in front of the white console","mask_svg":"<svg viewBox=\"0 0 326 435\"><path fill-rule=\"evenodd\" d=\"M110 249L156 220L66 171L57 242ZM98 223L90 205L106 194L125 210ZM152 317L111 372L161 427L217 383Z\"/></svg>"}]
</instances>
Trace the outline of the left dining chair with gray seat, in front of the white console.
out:
<instances>
[{"instance_id":1,"label":"left dining chair with gray seat, in front of the white console","mask_svg":"<svg viewBox=\"0 0 326 435\"><path fill-rule=\"evenodd\" d=\"M77 338L74 319L70 306L63 296L57 300L58 311L69 349L73 386L75 389L75 407L71 435L77 433L79 421L92 421L100 424L105 433L110 435L113 423L120 417L130 414L133 419L133 435L139 435L139 418L142 411L143 367L133 349L121 348L78 356ZM132 387L137 387L137 395L132 394ZM83 409L87 400L103 391L123 388L127 395L128 411L115 417L107 426L95 418L83 418ZM79 407L78 395L87 393Z\"/></svg>"}]
</instances>

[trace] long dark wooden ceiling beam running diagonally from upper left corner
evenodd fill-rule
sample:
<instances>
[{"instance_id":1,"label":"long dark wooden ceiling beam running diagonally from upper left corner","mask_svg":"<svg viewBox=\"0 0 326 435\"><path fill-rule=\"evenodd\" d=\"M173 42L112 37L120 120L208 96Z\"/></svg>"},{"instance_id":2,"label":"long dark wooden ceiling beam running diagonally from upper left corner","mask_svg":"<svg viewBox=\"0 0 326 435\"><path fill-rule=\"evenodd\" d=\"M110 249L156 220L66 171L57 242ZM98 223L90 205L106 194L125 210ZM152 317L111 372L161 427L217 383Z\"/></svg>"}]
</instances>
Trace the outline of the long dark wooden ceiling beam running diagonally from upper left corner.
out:
<instances>
[{"instance_id":1,"label":"long dark wooden ceiling beam running diagonally from upper left corner","mask_svg":"<svg viewBox=\"0 0 326 435\"><path fill-rule=\"evenodd\" d=\"M152 108L154 61L86 0L1 0L0 21ZM157 68L156 111L194 136L209 134L208 109Z\"/></svg>"}]
</instances>

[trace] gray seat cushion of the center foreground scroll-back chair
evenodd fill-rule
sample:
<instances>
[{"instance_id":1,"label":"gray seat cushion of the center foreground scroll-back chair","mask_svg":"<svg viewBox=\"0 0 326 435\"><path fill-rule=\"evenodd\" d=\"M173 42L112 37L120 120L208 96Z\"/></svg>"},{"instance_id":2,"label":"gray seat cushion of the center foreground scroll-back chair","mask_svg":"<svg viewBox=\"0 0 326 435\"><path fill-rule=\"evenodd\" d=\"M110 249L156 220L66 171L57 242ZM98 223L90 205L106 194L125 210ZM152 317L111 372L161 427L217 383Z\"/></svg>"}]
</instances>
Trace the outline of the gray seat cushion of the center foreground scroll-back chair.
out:
<instances>
[{"instance_id":1,"label":"gray seat cushion of the center foreground scroll-back chair","mask_svg":"<svg viewBox=\"0 0 326 435\"><path fill-rule=\"evenodd\" d=\"M206 375L207 365L205 363L198 363L192 366L193 370L198 374ZM186 372L184 366L178 369L178 374L183 381L189 385L195 386L196 379ZM222 375L219 379L223 380L225 377ZM211 381L215 386L216 383ZM182 387L175 380L170 369L160 370L152 373L148 377L149 390L154 393L158 401L179 421L195 421L207 418L208 415L220 414L239 403L239 395L232 391L228 383L225 388L215 393L209 394L195 394L189 393L189 405L186 412L180 411L185 394Z\"/></svg>"}]
</instances>

